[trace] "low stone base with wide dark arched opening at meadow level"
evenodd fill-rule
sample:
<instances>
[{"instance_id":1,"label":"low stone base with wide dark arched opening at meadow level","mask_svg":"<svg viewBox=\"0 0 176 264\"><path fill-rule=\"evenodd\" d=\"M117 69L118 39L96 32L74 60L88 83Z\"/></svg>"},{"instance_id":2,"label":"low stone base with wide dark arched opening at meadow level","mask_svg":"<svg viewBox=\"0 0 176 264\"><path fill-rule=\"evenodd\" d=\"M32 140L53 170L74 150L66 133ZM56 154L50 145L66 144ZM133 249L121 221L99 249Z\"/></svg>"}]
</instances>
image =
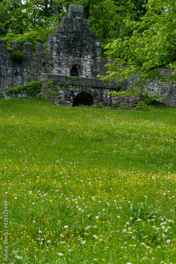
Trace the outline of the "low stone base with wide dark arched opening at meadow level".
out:
<instances>
[{"instance_id":1,"label":"low stone base with wide dark arched opening at meadow level","mask_svg":"<svg viewBox=\"0 0 176 264\"><path fill-rule=\"evenodd\" d=\"M110 84L107 87L97 87L98 85L92 84L92 79L88 78L63 78L57 76L51 77L53 83L42 84L42 96L56 105L64 104L65 106L81 106L81 105L95 105L102 103L104 106L116 107L116 103L128 103L129 105L135 104L136 99L133 96L125 96L119 98L118 96L111 96L109 92L113 89ZM69 80L65 82L65 79ZM61 83L61 85L60 85ZM91 83L91 84L88 84ZM92 87L94 86L94 87ZM48 90L53 90L53 97L48 95Z\"/></svg>"}]
</instances>

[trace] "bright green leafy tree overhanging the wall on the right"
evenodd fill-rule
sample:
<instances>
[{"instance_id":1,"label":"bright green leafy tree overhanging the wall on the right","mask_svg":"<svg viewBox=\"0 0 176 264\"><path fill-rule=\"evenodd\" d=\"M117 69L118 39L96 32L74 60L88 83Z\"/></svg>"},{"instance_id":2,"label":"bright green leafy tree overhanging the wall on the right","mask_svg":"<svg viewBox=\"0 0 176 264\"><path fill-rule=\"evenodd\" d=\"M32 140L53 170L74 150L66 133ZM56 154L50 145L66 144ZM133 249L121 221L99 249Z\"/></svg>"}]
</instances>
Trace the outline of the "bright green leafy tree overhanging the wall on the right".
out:
<instances>
[{"instance_id":1,"label":"bright green leafy tree overhanging the wall on the right","mask_svg":"<svg viewBox=\"0 0 176 264\"><path fill-rule=\"evenodd\" d=\"M99 76L104 82L120 80L121 76L127 79L130 75L136 75L138 85L147 79L176 80L175 75L160 74L161 69L176 66L176 3L149 0L145 8L147 12L140 21L125 21L132 35L107 45L107 54L113 63L109 64L108 76Z\"/></svg>"}]
</instances>

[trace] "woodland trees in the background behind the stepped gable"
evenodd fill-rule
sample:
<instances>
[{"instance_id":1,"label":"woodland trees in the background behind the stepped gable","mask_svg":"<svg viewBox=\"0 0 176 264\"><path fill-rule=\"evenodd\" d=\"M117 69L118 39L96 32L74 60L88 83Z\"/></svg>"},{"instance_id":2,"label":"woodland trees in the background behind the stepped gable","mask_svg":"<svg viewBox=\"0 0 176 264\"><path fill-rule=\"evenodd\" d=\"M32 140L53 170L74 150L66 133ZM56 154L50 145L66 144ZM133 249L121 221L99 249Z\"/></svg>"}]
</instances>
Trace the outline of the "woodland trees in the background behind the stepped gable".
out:
<instances>
[{"instance_id":1,"label":"woodland trees in the background behind the stepped gable","mask_svg":"<svg viewBox=\"0 0 176 264\"><path fill-rule=\"evenodd\" d=\"M8 41L46 44L47 33L54 34L61 17L67 16L69 4L84 6L90 29L105 44L131 34L125 20L139 21L146 12L145 1L135 0L0 0L0 37Z\"/></svg>"}]
</instances>

